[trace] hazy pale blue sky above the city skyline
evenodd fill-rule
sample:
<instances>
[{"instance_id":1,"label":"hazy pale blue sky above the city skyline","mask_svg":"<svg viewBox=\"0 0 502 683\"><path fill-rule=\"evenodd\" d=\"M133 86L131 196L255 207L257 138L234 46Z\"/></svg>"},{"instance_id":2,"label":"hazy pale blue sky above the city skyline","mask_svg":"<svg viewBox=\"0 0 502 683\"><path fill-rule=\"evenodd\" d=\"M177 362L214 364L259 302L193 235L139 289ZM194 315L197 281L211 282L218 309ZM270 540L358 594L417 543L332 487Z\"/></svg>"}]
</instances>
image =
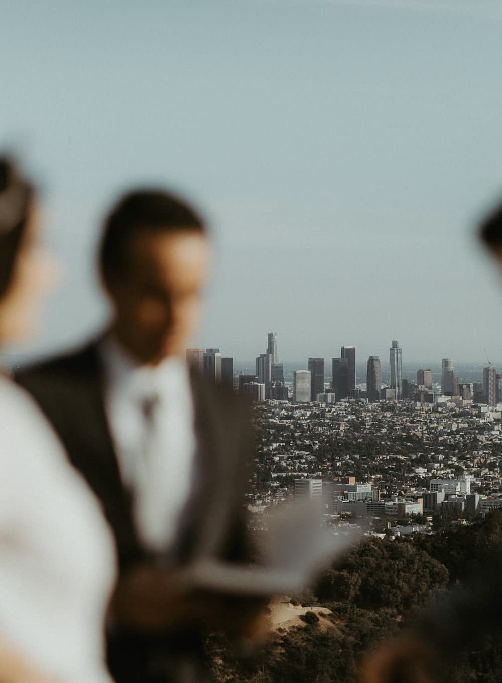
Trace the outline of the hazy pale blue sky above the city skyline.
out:
<instances>
[{"instance_id":1,"label":"hazy pale blue sky above the city skyline","mask_svg":"<svg viewBox=\"0 0 502 683\"><path fill-rule=\"evenodd\" d=\"M217 242L201 346L281 359L502 359L502 281L473 237L502 198L498 1L0 6L0 135L45 186L67 264L36 349L105 315L104 209L165 182Z\"/></svg>"}]
</instances>

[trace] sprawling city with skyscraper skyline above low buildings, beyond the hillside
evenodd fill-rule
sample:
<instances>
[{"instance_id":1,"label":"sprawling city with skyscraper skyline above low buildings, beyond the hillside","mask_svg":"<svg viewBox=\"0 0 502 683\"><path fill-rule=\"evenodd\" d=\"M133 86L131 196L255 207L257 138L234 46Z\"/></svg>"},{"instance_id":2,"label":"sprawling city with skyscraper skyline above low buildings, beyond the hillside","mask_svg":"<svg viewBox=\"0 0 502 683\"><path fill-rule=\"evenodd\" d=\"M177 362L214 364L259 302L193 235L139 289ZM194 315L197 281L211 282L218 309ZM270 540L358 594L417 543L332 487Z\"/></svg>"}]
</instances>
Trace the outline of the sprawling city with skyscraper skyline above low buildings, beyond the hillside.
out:
<instances>
[{"instance_id":1,"label":"sprawling city with skyscraper skyline above low buildings, beyond the hillside","mask_svg":"<svg viewBox=\"0 0 502 683\"><path fill-rule=\"evenodd\" d=\"M356 347L342 346L326 378L323 358L285 381L277 334L254 374L234 374L217 348L189 349L187 361L255 404L257 459L249 510L257 528L276 505L322 498L326 520L369 522L374 535L433 533L502 507L502 375L487 361L482 382L462 382L454 360L441 377L419 367L403 378L402 348L367 360L357 382ZM409 373L408 373L409 374ZM480 378L479 378L480 379ZM385 523L384 523L385 522Z\"/></svg>"}]
</instances>

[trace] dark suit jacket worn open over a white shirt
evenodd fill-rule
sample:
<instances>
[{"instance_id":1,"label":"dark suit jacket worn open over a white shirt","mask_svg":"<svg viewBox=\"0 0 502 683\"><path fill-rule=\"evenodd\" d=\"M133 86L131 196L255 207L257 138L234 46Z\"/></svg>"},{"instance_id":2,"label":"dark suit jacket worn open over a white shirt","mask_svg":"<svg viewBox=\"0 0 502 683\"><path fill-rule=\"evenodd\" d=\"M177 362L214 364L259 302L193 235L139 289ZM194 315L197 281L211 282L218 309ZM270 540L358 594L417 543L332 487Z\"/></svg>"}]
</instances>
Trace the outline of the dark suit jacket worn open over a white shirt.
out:
<instances>
[{"instance_id":1,"label":"dark suit jacket worn open over a white shirt","mask_svg":"<svg viewBox=\"0 0 502 683\"><path fill-rule=\"evenodd\" d=\"M131 496L122 484L104 409L104 379L98 342L20 372L18 383L33 395L53 423L72 464L102 502L115 535L120 572L156 561L133 524ZM249 406L226 387L191 374L201 486L191 501L176 548L180 564L203 556L246 561L247 464L253 449ZM200 634L150 637L115 632L109 666L118 683L200 680Z\"/></svg>"}]
</instances>

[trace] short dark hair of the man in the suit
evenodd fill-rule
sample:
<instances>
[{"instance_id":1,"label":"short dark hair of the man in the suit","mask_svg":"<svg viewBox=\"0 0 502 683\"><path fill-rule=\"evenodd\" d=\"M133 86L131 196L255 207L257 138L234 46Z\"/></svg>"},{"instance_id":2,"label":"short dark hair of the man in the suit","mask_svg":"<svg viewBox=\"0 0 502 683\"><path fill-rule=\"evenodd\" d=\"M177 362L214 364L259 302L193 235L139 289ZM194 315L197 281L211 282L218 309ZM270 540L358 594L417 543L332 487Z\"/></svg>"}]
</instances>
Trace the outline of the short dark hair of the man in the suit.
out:
<instances>
[{"instance_id":1,"label":"short dark hair of the man in the suit","mask_svg":"<svg viewBox=\"0 0 502 683\"><path fill-rule=\"evenodd\" d=\"M199 214L183 199L156 189L126 193L104 221L99 264L104 279L123 275L130 242L143 232L166 233L186 230L206 234Z\"/></svg>"}]
</instances>

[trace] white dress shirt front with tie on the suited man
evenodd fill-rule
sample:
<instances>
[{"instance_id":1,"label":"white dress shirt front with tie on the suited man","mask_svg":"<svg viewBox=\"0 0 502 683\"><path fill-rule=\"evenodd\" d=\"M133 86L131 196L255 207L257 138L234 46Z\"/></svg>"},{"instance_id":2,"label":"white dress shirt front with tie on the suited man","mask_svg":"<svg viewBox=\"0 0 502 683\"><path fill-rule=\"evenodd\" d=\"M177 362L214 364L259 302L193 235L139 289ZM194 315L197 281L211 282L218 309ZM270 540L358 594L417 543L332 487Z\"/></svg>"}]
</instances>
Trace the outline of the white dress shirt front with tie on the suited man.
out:
<instances>
[{"instance_id":1,"label":"white dress shirt front with tie on the suited man","mask_svg":"<svg viewBox=\"0 0 502 683\"><path fill-rule=\"evenodd\" d=\"M169 357L141 365L112 335L100 346L105 408L124 485L143 543L164 551L176 542L193 487L195 430L189 370Z\"/></svg>"}]
</instances>

